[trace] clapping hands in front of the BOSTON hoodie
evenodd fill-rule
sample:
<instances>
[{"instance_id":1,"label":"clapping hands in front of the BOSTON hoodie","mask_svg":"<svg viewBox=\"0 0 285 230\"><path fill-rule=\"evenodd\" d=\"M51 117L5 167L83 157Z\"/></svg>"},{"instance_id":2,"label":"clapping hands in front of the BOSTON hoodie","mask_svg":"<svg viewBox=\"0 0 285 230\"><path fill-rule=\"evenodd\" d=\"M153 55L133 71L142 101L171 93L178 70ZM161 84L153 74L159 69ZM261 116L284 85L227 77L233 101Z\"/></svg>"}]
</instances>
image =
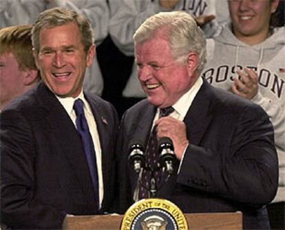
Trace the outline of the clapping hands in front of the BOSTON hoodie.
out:
<instances>
[{"instance_id":1,"label":"clapping hands in front of the BOSTON hoodie","mask_svg":"<svg viewBox=\"0 0 285 230\"><path fill-rule=\"evenodd\" d=\"M244 71L238 70L237 74L240 79L234 79L231 91L249 100L253 99L258 91L257 73L253 69L244 68Z\"/></svg>"}]
</instances>

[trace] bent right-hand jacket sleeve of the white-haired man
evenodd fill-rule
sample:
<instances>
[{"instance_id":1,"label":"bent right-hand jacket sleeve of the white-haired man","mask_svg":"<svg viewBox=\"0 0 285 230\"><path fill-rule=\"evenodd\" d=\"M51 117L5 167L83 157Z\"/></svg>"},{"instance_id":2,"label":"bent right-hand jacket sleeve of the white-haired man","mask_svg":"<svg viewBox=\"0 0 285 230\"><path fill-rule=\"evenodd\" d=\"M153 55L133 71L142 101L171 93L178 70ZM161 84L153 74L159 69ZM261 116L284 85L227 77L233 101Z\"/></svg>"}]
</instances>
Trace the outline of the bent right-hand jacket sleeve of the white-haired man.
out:
<instances>
[{"instance_id":1,"label":"bent right-hand jacket sleeve of the white-haired man","mask_svg":"<svg viewBox=\"0 0 285 230\"><path fill-rule=\"evenodd\" d=\"M247 107L232 128L232 135L224 135L229 139L229 146L189 145L178 183L237 203L253 206L269 203L278 183L271 122L260 106Z\"/></svg>"}]
</instances>

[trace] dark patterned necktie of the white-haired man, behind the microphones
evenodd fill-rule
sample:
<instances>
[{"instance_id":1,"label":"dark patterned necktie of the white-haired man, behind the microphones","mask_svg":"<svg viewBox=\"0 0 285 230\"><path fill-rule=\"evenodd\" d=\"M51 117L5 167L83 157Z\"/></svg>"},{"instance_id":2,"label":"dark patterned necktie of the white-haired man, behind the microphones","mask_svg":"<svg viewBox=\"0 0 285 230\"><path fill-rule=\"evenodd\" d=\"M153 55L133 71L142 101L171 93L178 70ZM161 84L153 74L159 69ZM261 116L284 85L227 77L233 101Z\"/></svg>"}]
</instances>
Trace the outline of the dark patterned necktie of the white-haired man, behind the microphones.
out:
<instances>
[{"instance_id":1,"label":"dark patterned necktie of the white-haired man, behind the microphones","mask_svg":"<svg viewBox=\"0 0 285 230\"><path fill-rule=\"evenodd\" d=\"M161 108L159 112L159 117L167 117L174 111L173 107ZM147 148L145 151L146 163L149 168L154 170L154 179L156 179L156 184L158 185L160 182L161 169L157 170L159 163L159 153L158 153L158 139L156 137L156 126L151 131L151 135L149 136L149 140L147 142ZM149 194L149 185L151 181L151 171L150 170L142 170L141 183L139 185L138 199L148 198Z\"/></svg>"}]
</instances>

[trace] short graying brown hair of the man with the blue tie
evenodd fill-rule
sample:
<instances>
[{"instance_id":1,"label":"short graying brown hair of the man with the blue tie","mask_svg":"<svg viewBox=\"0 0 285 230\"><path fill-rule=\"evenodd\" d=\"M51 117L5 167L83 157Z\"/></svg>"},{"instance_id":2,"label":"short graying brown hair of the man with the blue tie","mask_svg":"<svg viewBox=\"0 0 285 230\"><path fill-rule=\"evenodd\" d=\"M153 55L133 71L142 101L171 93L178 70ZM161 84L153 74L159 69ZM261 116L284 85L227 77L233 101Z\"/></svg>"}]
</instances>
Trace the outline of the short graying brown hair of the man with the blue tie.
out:
<instances>
[{"instance_id":1,"label":"short graying brown hair of the man with the blue tie","mask_svg":"<svg viewBox=\"0 0 285 230\"><path fill-rule=\"evenodd\" d=\"M63 8L52 8L39 14L34 23L34 27L32 28L32 45L36 52L38 53L40 49L39 34L41 30L66 25L67 23L72 22L75 22L78 25L79 31L81 32L81 42L87 53L89 47L94 44L92 25L82 14L78 14L78 12L74 10L66 10Z\"/></svg>"}]
</instances>

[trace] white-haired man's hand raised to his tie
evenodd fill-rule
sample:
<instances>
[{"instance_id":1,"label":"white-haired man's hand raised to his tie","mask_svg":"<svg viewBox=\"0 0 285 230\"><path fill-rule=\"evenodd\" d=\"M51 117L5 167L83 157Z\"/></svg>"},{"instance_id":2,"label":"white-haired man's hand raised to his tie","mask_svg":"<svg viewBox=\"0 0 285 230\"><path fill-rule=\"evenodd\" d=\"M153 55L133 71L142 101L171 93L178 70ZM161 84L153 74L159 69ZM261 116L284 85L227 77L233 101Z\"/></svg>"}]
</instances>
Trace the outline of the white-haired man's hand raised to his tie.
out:
<instances>
[{"instance_id":1,"label":"white-haired man's hand raised to his tie","mask_svg":"<svg viewBox=\"0 0 285 230\"><path fill-rule=\"evenodd\" d=\"M189 143L184 122L180 122L178 119L167 116L158 119L156 125L158 139L161 137L169 137L173 141L176 157L180 160Z\"/></svg>"}]
</instances>

